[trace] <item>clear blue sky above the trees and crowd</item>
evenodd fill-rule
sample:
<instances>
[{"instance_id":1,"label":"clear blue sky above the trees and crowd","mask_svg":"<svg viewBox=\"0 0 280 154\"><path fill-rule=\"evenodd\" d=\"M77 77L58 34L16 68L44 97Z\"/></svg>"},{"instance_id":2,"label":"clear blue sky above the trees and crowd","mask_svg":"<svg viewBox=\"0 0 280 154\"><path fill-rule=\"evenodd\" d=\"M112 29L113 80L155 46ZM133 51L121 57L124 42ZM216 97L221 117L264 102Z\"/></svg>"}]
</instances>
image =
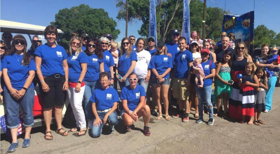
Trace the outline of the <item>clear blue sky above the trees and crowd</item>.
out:
<instances>
[{"instance_id":1,"label":"clear blue sky above the trees and crowd","mask_svg":"<svg viewBox=\"0 0 280 154\"><path fill-rule=\"evenodd\" d=\"M80 4L89 5L92 8L103 8L109 16L118 23L117 28L121 31L117 40L125 36L125 21L117 20L118 8L116 0L1 0L1 20L29 23L47 26L54 21L55 14L59 9L71 8ZM232 14L243 14L255 10L255 27L264 24L276 33L280 32L279 0L227 0L226 10ZM224 9L225 0L207 0L207 7L220 7ZM191 22L191 21L190 21ZM142 25L141 21L133 21L128 24L128 35L135 35Z\"/></svg>"}]
</instances>

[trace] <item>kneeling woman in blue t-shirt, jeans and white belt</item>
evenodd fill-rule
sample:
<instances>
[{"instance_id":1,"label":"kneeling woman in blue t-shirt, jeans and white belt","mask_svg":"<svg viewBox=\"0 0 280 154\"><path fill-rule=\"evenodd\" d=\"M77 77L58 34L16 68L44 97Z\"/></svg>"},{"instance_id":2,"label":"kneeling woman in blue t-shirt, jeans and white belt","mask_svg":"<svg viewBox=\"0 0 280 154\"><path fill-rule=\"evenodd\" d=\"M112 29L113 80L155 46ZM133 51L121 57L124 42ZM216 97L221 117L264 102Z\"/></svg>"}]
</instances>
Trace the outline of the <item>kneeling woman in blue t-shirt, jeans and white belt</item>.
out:
<instances>
[{"instance_id":1,"label":"kneeling woman in blue t-shirt, jeans and white belt","mask_svg":"<svg viewBox=\"0 0 280 154\"><path fill-rule=\"evenodd\" d=\"M101 135L104 124L109 123L110 133L115 132L114 125L118 124L118 117L115 111L119 101L118 92L114 88L109 87L110 80L107 72L100 73L99 81L101 86L93 91L90 98L92 112L95 116L91 128L94 138Z\"/></svg>"}]
</instances>

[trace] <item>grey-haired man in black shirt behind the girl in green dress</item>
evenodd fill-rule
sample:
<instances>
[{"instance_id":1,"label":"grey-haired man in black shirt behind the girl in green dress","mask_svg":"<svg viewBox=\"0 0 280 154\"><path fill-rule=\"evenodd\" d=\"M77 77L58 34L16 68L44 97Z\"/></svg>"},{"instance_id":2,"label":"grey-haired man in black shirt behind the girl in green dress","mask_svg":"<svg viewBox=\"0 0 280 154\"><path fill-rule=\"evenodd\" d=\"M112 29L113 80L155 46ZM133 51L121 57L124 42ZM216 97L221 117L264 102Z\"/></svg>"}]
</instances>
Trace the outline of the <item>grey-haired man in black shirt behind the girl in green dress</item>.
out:
<instances>
[{"instance_id":1,"label":"grey-haired man in black shirt behind the girl in green dress","mask_svg":"<svg viewBox=\"0 0 280 154\"><path fill-rule=\"evenodd\" d=\"M222 38L222 47L216 49L214 52L216 54L216 59L217 59L217 62L215 64L222 63L223 54L225 51L231 51L231 54L234 55L234 49L229 47L229 41L230 39L227 36L224 36Z\"/></svg>"}]
</instances>

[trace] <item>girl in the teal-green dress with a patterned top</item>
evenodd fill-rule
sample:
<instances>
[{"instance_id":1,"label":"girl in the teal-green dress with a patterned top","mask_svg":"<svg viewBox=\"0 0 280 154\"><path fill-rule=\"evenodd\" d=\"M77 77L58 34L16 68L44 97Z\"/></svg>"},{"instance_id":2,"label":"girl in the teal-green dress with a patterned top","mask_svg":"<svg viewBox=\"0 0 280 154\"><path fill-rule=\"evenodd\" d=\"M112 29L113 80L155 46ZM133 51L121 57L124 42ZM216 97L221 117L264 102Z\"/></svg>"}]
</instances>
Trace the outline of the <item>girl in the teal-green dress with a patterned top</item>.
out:
<instances>
[{"instance_id":1,"label":"girl in the teal-green dress with a patterned top","mask_svg":"<svg viewBox=\"0 0 280 154\"><path fill-rule=\"evenodd\" d=\"M223 60L222 63L219 63L216 69L216 80L215 80L215 92L213 101L215 102L217 99L217 113L214 114L215 117L219 116L220 114L220 107L222 103L222 97L223 97L223 103L224 103L224 115L223 119L227 118L227 101L228 101L228 94L231 91L230 85L231 82L231 60L232 54L230 51L226 51L223 54Z\"/></svg>"}]
</instances>

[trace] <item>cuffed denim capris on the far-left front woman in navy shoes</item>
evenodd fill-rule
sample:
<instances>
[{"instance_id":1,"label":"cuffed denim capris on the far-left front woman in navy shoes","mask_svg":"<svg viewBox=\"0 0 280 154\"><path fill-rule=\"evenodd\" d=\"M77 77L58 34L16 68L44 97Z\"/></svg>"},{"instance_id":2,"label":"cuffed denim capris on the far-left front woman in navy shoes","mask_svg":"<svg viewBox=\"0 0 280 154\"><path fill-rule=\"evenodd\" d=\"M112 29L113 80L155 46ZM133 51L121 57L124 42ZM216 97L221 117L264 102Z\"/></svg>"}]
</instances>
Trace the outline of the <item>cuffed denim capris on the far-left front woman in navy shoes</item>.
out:
<instances>
[{"instance_id":1,"label":"cuffed denim capris on the far-left front woman in navy shoes","mask_svg":"<svg viewBox=\"0 0 280 154\"><path fill-rule=\"evenodd\" d=\"M23 114L23 125L25 127L34 124L33 119L33 105L35 99L34 88L28 88L25 95L16 100L7 88L4 88L5 107L7 111L7 127L10 129L18 128L19 106L21 106Z\"/></svg>"}]
</instances>

